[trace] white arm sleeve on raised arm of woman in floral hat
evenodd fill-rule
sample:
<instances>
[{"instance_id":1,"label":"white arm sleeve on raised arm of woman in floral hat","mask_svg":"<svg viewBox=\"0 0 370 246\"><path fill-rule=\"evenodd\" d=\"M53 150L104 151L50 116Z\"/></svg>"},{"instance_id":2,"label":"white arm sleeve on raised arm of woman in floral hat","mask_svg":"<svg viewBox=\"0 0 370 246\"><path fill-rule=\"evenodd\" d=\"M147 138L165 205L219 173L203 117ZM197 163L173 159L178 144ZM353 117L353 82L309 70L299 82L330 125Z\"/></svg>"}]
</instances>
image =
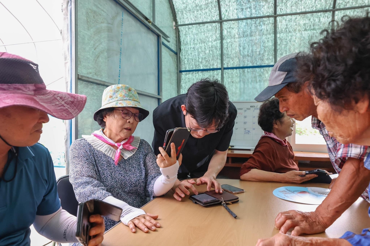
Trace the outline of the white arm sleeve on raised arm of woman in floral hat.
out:
<instances>
[{"instance_id":1,"label":"white arm sleeve on raised arm of woman in floral hat","mask_svg":"<svg viewBox=\"0 0 370 246\"><path fill-rule=\"evenodd\" d=\"M159 197L166 194L174 186L177 180L177 171L179 170L179 162L165 168L159 168L162 175L154 182L153 196Z\"/></svg>"}]
</instances>

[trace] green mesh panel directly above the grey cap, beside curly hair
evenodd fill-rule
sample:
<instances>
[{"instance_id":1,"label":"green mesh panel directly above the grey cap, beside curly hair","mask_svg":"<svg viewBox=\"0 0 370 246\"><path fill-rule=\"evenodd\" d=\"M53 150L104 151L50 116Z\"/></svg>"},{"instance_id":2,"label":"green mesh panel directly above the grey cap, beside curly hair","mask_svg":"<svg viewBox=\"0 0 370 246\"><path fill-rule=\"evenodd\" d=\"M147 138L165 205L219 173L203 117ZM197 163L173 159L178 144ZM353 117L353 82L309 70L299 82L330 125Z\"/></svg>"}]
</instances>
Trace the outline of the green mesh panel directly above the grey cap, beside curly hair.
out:
<instances>
[{"instance_id":1,"label":"green mesh panel directly above the grey cap, beside curly hair","mask_svg":"<svg viewBox=\"0 0 370 246\"><path fill-rule=\"evenodd\" d=\"M310 44L322 37L320 32L330 28L331 20L331 12L277 17L277 59L290 53L309 51Z\"/></svg>"}]
</instances>

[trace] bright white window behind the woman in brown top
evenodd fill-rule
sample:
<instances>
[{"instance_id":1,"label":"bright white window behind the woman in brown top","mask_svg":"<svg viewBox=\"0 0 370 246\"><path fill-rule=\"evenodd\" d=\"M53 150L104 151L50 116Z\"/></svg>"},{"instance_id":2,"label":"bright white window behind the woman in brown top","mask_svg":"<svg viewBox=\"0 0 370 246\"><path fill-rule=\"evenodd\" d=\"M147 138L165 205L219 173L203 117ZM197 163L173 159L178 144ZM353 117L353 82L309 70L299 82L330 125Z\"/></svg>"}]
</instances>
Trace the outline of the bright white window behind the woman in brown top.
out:
<instances>
[{"instance_id":1,"label":"bright white window behind the woman in brown top","mask_svg":"<svg viewBox=\"0 0 370 246\"><path fill-rule=\"evenodd\" d=\"M296 144L326 144L317 129L312 128L311 117L296 121Z\"/></svg>"}]
</instances>

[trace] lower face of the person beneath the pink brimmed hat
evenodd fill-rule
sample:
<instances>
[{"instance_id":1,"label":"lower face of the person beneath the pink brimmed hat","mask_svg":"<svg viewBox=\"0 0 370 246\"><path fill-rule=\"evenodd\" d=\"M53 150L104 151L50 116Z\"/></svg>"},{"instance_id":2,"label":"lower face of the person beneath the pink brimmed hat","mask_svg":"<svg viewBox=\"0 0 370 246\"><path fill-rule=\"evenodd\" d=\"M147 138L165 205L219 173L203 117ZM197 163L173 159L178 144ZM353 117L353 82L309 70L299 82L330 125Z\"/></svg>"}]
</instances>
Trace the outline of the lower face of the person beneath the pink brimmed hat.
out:
<instances>
[{"instance_id":1,"label":"lower face of the person beneath the pink brimmed hat","mask_svg":"<svg viewBox=\"0 0 370 246\"><path fill-rule=\"evenodd\" d=\"M0 108L0 135L10 145L32 146L40 140L43 123L48 121L47 113L36 108L24 106Z\"/></svg>"}]
</instances>

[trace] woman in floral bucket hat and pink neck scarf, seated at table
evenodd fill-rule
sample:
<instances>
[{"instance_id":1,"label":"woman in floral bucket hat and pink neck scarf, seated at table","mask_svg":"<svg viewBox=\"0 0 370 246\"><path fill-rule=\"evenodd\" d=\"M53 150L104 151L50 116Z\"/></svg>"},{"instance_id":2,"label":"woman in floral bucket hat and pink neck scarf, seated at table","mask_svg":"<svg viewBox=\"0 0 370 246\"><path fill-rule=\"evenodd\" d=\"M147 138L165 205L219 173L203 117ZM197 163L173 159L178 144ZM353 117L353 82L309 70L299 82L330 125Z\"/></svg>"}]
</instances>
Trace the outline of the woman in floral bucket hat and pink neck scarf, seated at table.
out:
<instances>
[{"instance_id":1,"label":"woman in floral bucket hat and pink neck scarf, seated at table","mask_svg":"<svg viewBox=\"0 0 370 246\"><path fill-rule=\"evenodd\" d=\"M176 161L175 145L171 156L160 148L156 156L147 141L133 136L149 112L139 102L137 92L124 84L104 90L102 106L94 120L102 129L83 135L71 145L70 181L80 202L98 199L123 209L121 221L131 232L143 232L161 225L158 215L139 209L147 198L164 195L174 185L182 156ZM104 218L105 229L117 222Z\"/></svg>"}]
</instances>

